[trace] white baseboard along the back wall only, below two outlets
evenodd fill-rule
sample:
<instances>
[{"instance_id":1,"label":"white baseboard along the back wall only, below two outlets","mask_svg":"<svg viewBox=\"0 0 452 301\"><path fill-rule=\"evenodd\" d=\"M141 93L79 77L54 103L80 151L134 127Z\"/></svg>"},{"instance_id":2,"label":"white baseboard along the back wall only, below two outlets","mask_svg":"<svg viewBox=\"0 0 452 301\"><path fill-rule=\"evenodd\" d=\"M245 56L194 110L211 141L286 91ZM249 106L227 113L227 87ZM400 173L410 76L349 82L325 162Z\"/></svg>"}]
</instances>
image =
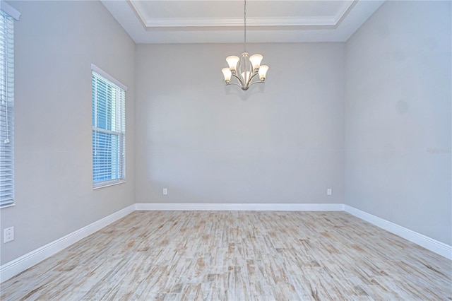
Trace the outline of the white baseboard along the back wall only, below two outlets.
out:
<instances>
[{"instance_id":1,"label":"white baseboard along the back wall only, below two outlets","mask_svg":"<svg viewBox=\"0 0 452 301\"><path fill-rule=\"evenodd\" d=\"M343 211L342 203L136 203L150 211Z\"/></svg>"}]
</instances>

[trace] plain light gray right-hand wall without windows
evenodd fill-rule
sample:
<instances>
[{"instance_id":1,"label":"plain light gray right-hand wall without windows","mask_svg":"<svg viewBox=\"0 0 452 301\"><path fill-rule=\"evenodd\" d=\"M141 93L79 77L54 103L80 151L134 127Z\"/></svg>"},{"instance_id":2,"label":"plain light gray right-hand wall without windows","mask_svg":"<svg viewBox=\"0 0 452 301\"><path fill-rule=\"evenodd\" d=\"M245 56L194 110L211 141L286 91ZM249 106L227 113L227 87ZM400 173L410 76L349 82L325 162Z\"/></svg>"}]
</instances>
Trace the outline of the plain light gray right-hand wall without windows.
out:
<instances>
[{"instance_id":1,"label":"plain light gray right-hand wall without windows","mask_svg":"<svg viewBox=\"0 0 452 301\"><path fill-rule=\"evenodd\" d=\"M345 65L345 203L451 244L451 1L386 1Z\"/></svg>"}]
</instances>

